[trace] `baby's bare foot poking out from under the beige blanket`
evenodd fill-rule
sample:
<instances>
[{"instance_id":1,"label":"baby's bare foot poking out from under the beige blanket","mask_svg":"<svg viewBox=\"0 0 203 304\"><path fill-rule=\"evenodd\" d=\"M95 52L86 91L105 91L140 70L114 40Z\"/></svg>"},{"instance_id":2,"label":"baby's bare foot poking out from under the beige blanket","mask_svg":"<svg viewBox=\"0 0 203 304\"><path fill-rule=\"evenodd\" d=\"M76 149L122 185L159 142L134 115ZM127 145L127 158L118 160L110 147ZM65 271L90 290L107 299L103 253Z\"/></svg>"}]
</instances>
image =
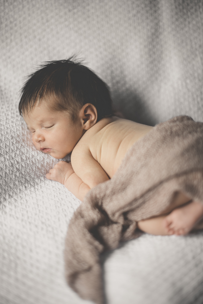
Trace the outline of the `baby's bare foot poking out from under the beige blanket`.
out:
<instances>
[{"instance_id":1,"label":"baby's bare foot poking out from under the beige blanket","mask_svg":"<svg viewBox=\"0 0 203 304\"><path fill-rule=\"evenodd\" d=\"M174 209L164 219L164 226L168 234L187 234L203 215L203 204L191 202L187 205Z\"/></svg>"}]
</instances>

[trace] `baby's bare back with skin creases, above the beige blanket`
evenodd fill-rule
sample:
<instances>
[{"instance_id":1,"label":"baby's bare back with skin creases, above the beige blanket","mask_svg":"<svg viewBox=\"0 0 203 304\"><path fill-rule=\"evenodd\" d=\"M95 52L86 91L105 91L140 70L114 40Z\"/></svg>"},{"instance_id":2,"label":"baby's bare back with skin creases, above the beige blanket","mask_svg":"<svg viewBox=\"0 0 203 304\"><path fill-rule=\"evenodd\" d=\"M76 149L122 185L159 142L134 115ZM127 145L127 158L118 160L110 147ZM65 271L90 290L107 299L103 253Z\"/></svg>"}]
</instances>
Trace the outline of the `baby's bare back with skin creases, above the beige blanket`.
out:
<instances>
[{"instance_id":1,"label":"baby's bare back with skin creases, above the beige blanket","mask_svg":"<svg viewBox=\"0 0 203 304\"><path fill-rule=\"evenodd\" d=\"M90 151L112 178L129 148L152 128L117 117L101 119L82 136L72 156L79 157L81 153Z\"/></svg>"}]
</instances>

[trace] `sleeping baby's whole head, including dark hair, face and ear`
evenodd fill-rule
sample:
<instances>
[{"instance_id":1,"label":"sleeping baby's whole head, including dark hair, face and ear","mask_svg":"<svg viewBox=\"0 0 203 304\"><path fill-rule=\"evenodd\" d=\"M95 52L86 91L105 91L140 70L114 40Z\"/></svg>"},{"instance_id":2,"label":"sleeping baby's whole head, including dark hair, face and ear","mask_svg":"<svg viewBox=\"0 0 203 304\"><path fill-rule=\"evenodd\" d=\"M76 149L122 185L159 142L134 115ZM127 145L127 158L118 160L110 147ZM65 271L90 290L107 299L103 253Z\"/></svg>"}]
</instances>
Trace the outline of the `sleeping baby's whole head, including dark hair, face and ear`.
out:
<instances>
[{"instance_id":1,"label":"sleeping baby's whole head, including dark hair, face and ear","mask_svg":"<svg viewBox=\"0 0 203 304\"><path fill-rule=\"evenodd\" d=\"M86 130L112 116L107 85L88 67L50 61L28 76L19 112L38 150L55 158L69 154Z\"/></svg>"}]
</instances>

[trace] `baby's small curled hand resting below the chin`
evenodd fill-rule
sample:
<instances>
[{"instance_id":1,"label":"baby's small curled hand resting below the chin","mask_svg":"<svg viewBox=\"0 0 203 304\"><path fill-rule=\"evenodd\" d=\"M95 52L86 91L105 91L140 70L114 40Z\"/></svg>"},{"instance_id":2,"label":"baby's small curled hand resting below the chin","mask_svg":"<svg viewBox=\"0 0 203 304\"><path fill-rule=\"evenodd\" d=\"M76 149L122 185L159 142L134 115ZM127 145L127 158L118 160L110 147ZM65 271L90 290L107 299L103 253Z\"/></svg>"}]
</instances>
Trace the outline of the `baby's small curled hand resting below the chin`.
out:
<instances>
[{"instance_id":1,"label":"baby's small curled hand resting below the chin","mask_svg":"<svg viewBox=\"0 0 203 304\"><path fill-rule=\"evenodd\" d=\"M74 173L71 163L66 161L59 161L53 169L49 170L46 174L46 178L52 179L53 181L58 181L64 185L69 176Z\"/></svg>"}]
</instances>

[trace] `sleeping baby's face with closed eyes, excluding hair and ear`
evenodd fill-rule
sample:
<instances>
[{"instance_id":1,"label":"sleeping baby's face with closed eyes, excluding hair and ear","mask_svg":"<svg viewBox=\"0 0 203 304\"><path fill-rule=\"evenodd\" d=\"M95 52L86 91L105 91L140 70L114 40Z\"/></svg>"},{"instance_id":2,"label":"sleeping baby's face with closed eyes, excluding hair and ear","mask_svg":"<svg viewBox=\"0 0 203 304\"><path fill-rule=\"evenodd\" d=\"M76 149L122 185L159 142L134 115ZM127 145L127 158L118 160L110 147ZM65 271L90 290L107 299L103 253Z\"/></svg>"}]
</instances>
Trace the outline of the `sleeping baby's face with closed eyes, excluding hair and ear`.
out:
<instances>
[{"instance_id":1,"label":"sleeping baby's face with closed eyes, excluding hair and ear","mask_svg":"<svg viewBox=\"0 0 203 304\"><path fill-rule=\"evenodd\" d=\"M84 133L80 119L73 123L68 112L54 111L44 100L23 118L37 150L58 159L71 153Z\"/></svg>"}]
</instances>

